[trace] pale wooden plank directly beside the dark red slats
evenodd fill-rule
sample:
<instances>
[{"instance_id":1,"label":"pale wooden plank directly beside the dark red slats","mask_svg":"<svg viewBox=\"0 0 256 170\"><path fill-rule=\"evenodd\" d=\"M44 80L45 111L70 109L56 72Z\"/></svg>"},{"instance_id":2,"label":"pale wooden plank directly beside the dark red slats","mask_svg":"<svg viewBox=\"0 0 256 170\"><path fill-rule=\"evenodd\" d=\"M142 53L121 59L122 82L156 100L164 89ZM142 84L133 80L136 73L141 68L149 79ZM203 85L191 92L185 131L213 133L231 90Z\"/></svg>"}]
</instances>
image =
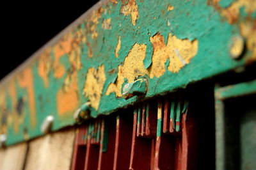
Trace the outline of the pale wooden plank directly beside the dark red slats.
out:
<instances>
[{"instance_id":1,"label":"pale wooden plank directly beside the dark red slats","mask_svg":"<svg viewBox=\"0 0 256 170\"><path fill-rule=\"evenodd\" d=\"M72 128L31 141L25 169L70 169L74 137Z\"/></svg>"}]
</instances>

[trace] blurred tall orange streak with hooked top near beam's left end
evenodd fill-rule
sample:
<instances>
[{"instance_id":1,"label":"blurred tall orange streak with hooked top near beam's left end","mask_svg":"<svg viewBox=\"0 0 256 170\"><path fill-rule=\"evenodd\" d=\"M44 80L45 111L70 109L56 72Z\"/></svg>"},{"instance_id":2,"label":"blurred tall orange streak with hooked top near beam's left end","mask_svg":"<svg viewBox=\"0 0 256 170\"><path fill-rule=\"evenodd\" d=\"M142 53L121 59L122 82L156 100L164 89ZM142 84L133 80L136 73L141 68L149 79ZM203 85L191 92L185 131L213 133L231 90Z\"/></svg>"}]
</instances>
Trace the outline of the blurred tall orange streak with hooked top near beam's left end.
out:
<instances>
[{"instance_id":1,"label":"blurred tall orange streak with hooked top near beam's left end","mask_svg":"<svg viewBox=\"0 0 256 170\"><path fill-rule=\"evenodd\" d=\"M18 77L18 82L21 88L26 88L28 91L28 102L30 109L30 121L32 127L36 126L36 111L35 111L35 93L33 84L33 72L31 68L25 68Z\"/></svg>"}]
</instances>

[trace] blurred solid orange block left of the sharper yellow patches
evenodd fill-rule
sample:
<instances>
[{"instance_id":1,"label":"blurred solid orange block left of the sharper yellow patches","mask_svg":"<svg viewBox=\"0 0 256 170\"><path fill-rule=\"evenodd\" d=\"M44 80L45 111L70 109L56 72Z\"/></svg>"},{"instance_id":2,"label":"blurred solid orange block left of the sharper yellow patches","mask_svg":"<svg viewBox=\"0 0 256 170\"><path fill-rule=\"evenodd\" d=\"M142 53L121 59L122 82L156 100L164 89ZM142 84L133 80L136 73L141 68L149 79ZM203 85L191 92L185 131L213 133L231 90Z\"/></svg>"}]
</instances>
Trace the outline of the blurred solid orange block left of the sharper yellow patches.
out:
<instances>
[{"instance_id":1,"label":"blurred solid orange block left of the sharper yellow patches","mask_svg":"<svg viewBox=\"0 0 256 170\"><path fill-rule=\"evenodd\" d=\"M58 114L74 111L79 104L77 91L77 75L73 73L65 77L63 88L57 93Z\"/></svg>"}]
</instances>

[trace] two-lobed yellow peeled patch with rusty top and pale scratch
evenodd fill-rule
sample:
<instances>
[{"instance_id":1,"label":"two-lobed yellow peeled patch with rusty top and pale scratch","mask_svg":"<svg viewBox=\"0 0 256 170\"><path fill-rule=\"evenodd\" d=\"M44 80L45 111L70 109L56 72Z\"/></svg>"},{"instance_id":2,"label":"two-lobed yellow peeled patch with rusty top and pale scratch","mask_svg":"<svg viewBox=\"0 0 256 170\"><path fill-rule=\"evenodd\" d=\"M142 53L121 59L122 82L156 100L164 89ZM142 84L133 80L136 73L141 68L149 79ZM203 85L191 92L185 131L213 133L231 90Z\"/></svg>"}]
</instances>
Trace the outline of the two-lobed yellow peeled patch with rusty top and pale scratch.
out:
<instances>
[{"instance_id":1,"label":"two-lobed yellow peeled patch with rusty top and pale scratch","mask_svg":"<svg viewBox=\"0 0 256 170\"><path fill-rule=\"evenodd\" d=\"M167 45L164 44L162 35L150 37L153 45L152 65L149 69L149 77L160 77L165 72L165 63L170 59L168 70L179 72L180 68L188 64L198 50L198 41L180 40L174 35L169 34Z\"/></svg>"}]
</instances>

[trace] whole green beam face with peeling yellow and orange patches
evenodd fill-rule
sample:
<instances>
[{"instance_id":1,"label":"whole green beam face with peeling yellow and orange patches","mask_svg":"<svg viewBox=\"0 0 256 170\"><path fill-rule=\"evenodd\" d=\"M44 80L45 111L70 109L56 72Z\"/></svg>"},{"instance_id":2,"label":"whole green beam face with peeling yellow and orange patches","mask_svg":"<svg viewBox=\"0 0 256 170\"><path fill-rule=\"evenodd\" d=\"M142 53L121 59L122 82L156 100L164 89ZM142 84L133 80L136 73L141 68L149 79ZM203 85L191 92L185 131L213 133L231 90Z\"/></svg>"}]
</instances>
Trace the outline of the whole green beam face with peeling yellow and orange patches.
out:
<instances>
[{"instance_id":1,"label":"whole green beam face with peeling yellow and orange patches","mask_svg":"<svg viewBox=\"0 0 256 170\"><path fill-rule=\"evenodd\" d=\"M247 10L243 16L237 13L233 24L217 5L204 0L100 2L1 82L0 127L7 144L42 135L40 125L49 114L54 116L52 130L73 125L74 112L89 100L92 117L133 105L141 98L120 97L120 84L140 76L148 76L146 99L255 61L253 46L248 45L243 59L234 60L229 45L233 35L242 34L244 15L253 17L256 9L238 6ZM253 22L246 24L250 28Z\"/></svg>"}]
</instances>

